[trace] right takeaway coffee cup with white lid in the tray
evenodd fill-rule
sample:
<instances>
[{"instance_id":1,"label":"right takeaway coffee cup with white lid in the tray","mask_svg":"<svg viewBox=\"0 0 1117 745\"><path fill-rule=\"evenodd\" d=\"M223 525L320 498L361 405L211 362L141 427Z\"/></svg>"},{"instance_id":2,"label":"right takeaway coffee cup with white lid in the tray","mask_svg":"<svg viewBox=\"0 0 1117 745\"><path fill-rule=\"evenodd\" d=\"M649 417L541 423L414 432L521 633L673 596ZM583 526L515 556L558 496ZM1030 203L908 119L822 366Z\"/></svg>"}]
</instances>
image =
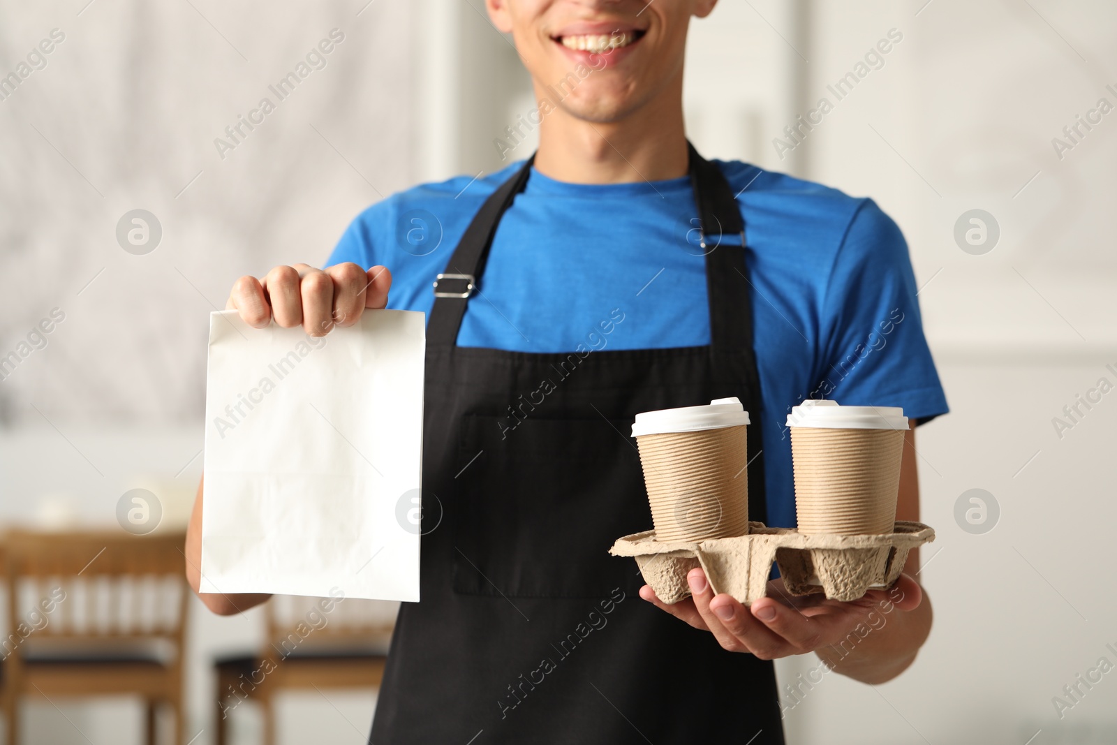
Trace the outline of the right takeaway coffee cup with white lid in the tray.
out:
<instances>
[{"instance_id":1,"label":"right takeaway coffee cup with white lid in the tray","mask_svg":"<svg viewBox=\"0 0 1117 745\"><path fill-rule=\"evenodd\" d=\"M895 407L803 401L787 416L804 535L891 533L908 421Z\"/></svg>"}]
</instances>

